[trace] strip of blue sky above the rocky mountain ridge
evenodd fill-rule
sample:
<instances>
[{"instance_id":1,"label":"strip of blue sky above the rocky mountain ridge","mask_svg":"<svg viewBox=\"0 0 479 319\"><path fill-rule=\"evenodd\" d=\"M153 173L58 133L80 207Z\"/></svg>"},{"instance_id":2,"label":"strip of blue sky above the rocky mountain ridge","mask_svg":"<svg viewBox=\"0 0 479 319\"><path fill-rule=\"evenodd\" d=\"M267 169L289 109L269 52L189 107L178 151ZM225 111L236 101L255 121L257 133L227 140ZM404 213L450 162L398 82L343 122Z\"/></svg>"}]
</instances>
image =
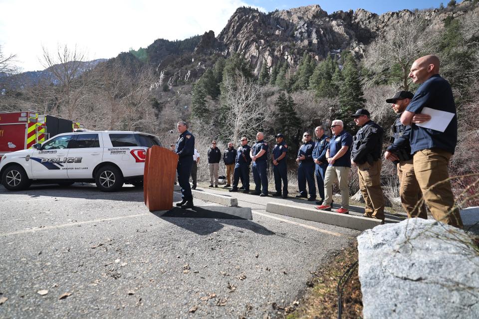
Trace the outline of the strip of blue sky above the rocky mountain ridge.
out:
<instances>
[{"instance_id":1,"label":"strip of blue sky above the rocky mountain ridge","mask_svg":"<svg viewBox=\"0 0 479 319\"><path fill-rule=\"evenodd\" d=\"M334 11L349 9L356 10L358 8L366 9L368 11L382 14L388 11L399 11L402 9L424 9L439 7L439 0L401 0L401 1L377 1L377 0L338 0L338 1L307 1L307 0L249 0L251 4L265 8L267 11L273 11L274 9L288 9L297 6L304 6L309 4L319 4L321 8L328 13ZM447 5L449 0L442 1L444 5ZM460 1L458 1L460 2Z\"/></svg>"}]
</instances>

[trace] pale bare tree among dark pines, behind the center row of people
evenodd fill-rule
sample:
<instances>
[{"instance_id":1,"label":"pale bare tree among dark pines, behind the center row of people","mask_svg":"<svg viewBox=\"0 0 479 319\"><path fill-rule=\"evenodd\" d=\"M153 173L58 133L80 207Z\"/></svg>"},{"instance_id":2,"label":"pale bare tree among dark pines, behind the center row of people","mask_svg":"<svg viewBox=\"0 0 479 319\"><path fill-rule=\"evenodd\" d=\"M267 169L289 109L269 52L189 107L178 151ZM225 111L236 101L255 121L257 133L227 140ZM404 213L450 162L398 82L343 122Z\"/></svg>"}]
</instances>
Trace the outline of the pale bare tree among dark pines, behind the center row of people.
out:
<instances>
[{"instance_id":1,"label":"pale bare tree among dark pines, behind the center row of people","mask_svg":"<svg viewBox=\"0 0 479 319\"><path fill-rule=\"evenodd\" d=\"M237 72L235 77L227 77L224 82L224 103L228 106L225 127L231 141L238 141L242 134L252 134L261 128L267 114L260 107L262 87L249 81Z\"/></svg>"}]
</instances>

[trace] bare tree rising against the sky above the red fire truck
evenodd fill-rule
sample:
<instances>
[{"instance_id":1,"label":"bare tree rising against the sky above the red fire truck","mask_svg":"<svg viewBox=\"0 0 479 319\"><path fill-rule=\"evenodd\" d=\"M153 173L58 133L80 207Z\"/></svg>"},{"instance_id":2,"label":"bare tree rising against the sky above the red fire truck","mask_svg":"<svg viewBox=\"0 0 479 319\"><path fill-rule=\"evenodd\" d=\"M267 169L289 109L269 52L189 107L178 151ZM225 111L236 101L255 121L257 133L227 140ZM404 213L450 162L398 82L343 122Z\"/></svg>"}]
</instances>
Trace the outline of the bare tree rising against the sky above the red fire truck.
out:
<instances>
[{"instance_id":1,"label":"bare tree rising against the sky above the red fire truck","mask_svg":"<svg viewBox=\"0 0 479 319\"><path fill-rule=\"evenodd\" d=\"M85 63L85 54L76 46L70 49L67 45L58 45L57 51L50 54L42 47L43 67L53 74L56 85L56 102L54 109L58 114L73 120L80 101L88 94L90 86L89 67Z\"/></svg>"}]
</instances>

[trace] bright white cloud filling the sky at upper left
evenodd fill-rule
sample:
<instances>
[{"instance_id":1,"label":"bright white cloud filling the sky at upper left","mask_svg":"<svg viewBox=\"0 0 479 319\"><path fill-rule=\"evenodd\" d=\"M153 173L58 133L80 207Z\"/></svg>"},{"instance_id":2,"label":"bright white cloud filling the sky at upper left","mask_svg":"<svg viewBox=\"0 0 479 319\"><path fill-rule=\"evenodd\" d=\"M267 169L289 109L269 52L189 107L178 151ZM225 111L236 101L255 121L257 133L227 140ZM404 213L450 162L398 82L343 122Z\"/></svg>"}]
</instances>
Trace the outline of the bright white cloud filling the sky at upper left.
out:
<instances>
[{"instance_id":1,"label":"bright white cloud filling the sky at upper left","mask_svg":"<svg viewBox=\"0 0 479 319\"><path fill-rule=\"evenodd\" d=\"M0 45L24 71L43 69L41 47L77 45L88 59L110 58L158 38L218 35L241 0L0 0ZM259 8L264 11L263 8Z\"/></svg>"}]
</instances>

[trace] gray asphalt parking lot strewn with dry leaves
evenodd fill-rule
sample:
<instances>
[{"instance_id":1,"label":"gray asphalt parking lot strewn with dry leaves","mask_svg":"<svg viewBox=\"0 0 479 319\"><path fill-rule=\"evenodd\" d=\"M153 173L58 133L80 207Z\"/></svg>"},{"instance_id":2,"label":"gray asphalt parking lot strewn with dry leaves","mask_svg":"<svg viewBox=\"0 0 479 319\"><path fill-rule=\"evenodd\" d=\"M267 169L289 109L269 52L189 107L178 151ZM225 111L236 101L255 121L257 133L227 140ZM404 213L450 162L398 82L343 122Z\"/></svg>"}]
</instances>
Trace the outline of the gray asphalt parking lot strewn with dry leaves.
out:
<instances>
[{"instance_id":1,"label":"gray asphalt parking lot strewn with dry leaves","mask_svg":"<svg viewBox=\"0 0 479 319\"><path fill-rule=\"evenodd\" d=\"M243 196L252 220L166 217L127 186L0 186L0 318L276 317L359 232Z\"/></svg>"}]
</instances>

